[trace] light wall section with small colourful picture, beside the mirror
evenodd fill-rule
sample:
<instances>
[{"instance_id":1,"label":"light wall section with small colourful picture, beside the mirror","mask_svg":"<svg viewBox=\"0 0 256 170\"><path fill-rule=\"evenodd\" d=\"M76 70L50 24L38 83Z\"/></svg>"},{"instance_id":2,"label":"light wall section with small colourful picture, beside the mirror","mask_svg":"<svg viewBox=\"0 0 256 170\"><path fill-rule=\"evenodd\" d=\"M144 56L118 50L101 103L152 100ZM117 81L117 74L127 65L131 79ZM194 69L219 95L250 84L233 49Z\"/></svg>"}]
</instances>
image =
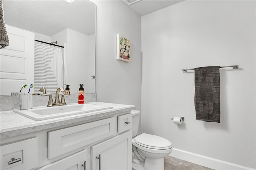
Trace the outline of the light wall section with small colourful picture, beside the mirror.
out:
<instances>
[{"instance_id":1,"label":"light wall section with small colourful picture, beside the mirror","mask_svg":"<svg viewBox=\"0 0 256 170\"><path fill-rule=\"evenodd\" d=\"M97 6L96 93L98 102L141 105L141 17L124 2L92 0ZM116 34L131 41L131 62L116 60Z\"/></svg>"}]
</instances>

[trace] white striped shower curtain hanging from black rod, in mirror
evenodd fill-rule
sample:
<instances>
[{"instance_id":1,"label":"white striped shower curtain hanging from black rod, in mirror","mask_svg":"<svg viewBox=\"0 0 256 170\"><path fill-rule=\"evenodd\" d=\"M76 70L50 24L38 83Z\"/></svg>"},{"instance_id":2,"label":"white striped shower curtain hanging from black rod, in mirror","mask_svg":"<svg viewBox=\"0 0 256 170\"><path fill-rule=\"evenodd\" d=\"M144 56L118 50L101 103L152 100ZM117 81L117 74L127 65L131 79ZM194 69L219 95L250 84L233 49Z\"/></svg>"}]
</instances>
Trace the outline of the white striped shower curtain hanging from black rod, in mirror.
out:
<instances>
[{"instance_id":1,"label":"white striped shower curtain hanging from black rod, in mirror","mask_svg":"<svg viewBox=\"0 0 256 170\"><path fill-rule=\"evenodd\" d=\"M55 93L58 87L64 85L63 74L63 49L35 43L35 93L41 87L46 88L47 94Z\"/></svg>"}]
</instances>

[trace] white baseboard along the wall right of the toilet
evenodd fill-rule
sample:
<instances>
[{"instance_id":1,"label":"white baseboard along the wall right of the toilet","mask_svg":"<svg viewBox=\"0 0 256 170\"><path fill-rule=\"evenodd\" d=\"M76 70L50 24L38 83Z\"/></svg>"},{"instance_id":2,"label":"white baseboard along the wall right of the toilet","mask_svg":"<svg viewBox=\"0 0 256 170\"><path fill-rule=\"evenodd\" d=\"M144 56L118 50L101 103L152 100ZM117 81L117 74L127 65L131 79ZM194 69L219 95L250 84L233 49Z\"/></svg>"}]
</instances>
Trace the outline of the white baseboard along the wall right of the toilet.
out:
<instances>
[{"instance_id":1,"label":"white baseboard along the wall right of the toilet","mask_svg":"<svg viewBox=\"0 0 256 170\"><path fill-rule=\"evenodd\" d=\"M195 154L192 152L187 152L185 150L175 148L172 149L172 153L169 156L173 156L175 158L186 160L194 164L212 168L214 170L255 170L253 168L249 168L246 166L233 164L223 160L218 160L215 158L210 158L208 156L203 156L200 154Z\"/></svg>"}]
</instances>

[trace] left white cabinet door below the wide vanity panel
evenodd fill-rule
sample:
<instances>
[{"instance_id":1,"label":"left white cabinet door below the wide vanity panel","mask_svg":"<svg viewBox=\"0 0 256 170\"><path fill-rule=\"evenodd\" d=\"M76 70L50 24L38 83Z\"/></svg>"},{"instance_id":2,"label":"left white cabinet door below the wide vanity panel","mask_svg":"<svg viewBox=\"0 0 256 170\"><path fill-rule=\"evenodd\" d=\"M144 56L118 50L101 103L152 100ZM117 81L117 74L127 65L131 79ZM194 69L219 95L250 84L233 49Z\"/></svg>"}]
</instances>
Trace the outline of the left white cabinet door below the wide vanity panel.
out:
<instances>
[{"instance_id":1,"label":"left white cabinet door below the wide vanity panel","mask_svg":"<svg viewBox=\"0 0 256 170\"><path fill-rule=\"evenodd\" d=\"M86 150L82 150L78 153L72 154L71 156L43 166L38 170L85 170L86 168L82 166L84 161L86 161L85 159ZM87 162L87 164L88 163L89 162Z\"/></svg>"}]
</instances>

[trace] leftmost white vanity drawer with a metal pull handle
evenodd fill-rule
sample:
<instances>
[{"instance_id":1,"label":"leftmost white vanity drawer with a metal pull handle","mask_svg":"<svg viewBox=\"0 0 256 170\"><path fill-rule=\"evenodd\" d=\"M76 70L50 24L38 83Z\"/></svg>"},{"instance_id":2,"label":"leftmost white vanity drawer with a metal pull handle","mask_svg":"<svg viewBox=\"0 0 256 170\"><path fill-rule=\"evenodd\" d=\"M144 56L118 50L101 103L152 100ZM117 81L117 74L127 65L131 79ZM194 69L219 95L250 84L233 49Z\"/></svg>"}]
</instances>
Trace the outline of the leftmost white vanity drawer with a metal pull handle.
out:
<instances>
[{"instance_id":1,"label":"leftmost white vanity drawer with a metal pull handle","mask_svg":"<svg viewBox=\"0 0 256 170\"><path fill-rule=\"evenodd\" d=\"M1 170L31 169L38 164L38 138L1 145Z\"/></svg>"}]
</instances>

